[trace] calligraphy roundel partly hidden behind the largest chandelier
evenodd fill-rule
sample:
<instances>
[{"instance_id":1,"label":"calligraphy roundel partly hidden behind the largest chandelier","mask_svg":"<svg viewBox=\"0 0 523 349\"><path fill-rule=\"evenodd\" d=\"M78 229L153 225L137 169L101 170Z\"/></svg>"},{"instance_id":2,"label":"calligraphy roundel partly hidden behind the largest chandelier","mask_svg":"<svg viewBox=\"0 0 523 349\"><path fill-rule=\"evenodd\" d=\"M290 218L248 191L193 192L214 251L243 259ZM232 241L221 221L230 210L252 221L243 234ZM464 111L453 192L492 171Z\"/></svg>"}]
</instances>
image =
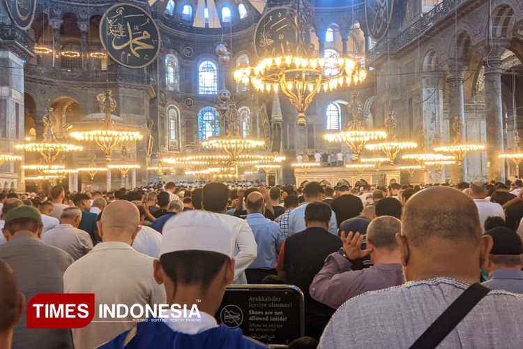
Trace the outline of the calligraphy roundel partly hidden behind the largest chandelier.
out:
<instances>
[{"instance_id":1,"label":"calligraphy roundel partly hidden behind the largest chandelier","mask_svg":"<svg viewBox=\"0 0 523 349\"><path fill-rule=\"evenodd\" d=\"M255 51L259 58L285 56L296 45L296 31L287 20L287 8L273 8L261 17L255 31Z\"/></svg>"}]
</instances>

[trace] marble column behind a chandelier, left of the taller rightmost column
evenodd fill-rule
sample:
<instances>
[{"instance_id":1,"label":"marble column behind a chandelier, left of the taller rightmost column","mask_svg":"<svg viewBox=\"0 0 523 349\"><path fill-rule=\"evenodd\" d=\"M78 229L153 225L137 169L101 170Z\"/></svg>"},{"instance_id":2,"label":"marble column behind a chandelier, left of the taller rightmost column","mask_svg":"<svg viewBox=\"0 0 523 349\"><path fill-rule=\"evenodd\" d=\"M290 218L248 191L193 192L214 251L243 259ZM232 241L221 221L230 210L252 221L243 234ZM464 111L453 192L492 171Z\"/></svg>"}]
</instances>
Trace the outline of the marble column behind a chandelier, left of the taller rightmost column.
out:
<instances>
[{"instance_id":1,"label":"marble column behind a chandelier, left of the taller rightmost column","mask_svg":"<svg viewBox=\"0 0 523 349\"><path fill-rule=\"evenodd\" d=\"M456 134L453 131L453 123L455 117L459 117L465 124L465 110L464 110L464 96L463 96L463 82L465 81L464 75L467 70L467 66L464 64L449 64L447 82L449 89L448 98L448 119L450 123L450 142L453 142L456 138ZM464 141L465 138L465 127L461 133ZM462 165L453 165L450 170L450 179L453 184L458 184L460 181L467 181L467 157L462 161Z\"/></svg>"}]
</instances>

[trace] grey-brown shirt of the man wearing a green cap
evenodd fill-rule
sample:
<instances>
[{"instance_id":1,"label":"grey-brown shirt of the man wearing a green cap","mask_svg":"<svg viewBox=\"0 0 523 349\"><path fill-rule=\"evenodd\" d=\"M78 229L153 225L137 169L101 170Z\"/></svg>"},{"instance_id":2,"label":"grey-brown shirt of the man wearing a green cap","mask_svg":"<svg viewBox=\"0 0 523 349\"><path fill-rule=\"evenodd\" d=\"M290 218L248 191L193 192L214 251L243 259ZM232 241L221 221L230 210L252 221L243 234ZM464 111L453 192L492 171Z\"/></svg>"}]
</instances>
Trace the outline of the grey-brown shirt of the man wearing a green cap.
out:
<instances>
[{"instance_id":1,"label":"grey-brown shirt of the man wearing a green cap","mask_svg":"<svg viewBox=\"0 0 523 349\"><path fill-rule=\"evenodd\" d=\"M63 293L63 273L73 258L31 235L20 235L1 245L0 258L13 268L18 288L26 298L22 317L13 329L13 348L73 349L69 329L28 329L26 326L26 309L31 298L40 293Z\"/></svg>"}]
</instances>

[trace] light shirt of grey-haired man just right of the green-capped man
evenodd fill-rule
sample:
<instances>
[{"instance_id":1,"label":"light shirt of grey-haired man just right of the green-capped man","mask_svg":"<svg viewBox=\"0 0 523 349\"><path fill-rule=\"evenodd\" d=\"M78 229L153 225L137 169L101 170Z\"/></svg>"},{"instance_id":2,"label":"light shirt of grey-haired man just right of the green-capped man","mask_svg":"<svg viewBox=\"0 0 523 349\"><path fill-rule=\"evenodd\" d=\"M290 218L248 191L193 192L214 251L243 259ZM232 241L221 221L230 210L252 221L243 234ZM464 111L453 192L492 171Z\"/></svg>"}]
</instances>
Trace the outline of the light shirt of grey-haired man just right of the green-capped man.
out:
<instances>
[{"instance_id":1,"label":"light shirt of grey-haired man just right of the green-capped man","mask_svg":"<svg viewBox=\"0 0 523 349\"><path fill-rule=\"evenodd\" d=\"M60 224L56 228L47 230L42 235L42 241L45 244L61 248L69 253L74 260L83 257L93 249L91 236L84 230L74 228L70 224Z\"/></svg>"}]
</instances>

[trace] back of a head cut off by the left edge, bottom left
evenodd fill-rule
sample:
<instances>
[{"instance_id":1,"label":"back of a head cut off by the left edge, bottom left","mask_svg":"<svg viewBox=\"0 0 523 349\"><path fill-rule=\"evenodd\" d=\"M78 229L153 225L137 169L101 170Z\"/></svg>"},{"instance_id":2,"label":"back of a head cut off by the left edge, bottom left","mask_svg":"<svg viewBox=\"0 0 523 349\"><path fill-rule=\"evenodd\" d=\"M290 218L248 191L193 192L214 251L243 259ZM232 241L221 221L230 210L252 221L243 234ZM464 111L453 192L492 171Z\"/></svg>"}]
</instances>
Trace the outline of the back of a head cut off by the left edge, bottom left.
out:
<instances>
[{"instance_id":1,"label":"back of a head cut off by the left edge, bottom left","mask_svg":"<svg viewBox=\"0 0 523 349\"><path fill-rule=\"evenodd\" d=\"M23 306L24 296L18 292L13 269L0 258L0 334L18 322Z\"/></svg>"}]
</instances>

